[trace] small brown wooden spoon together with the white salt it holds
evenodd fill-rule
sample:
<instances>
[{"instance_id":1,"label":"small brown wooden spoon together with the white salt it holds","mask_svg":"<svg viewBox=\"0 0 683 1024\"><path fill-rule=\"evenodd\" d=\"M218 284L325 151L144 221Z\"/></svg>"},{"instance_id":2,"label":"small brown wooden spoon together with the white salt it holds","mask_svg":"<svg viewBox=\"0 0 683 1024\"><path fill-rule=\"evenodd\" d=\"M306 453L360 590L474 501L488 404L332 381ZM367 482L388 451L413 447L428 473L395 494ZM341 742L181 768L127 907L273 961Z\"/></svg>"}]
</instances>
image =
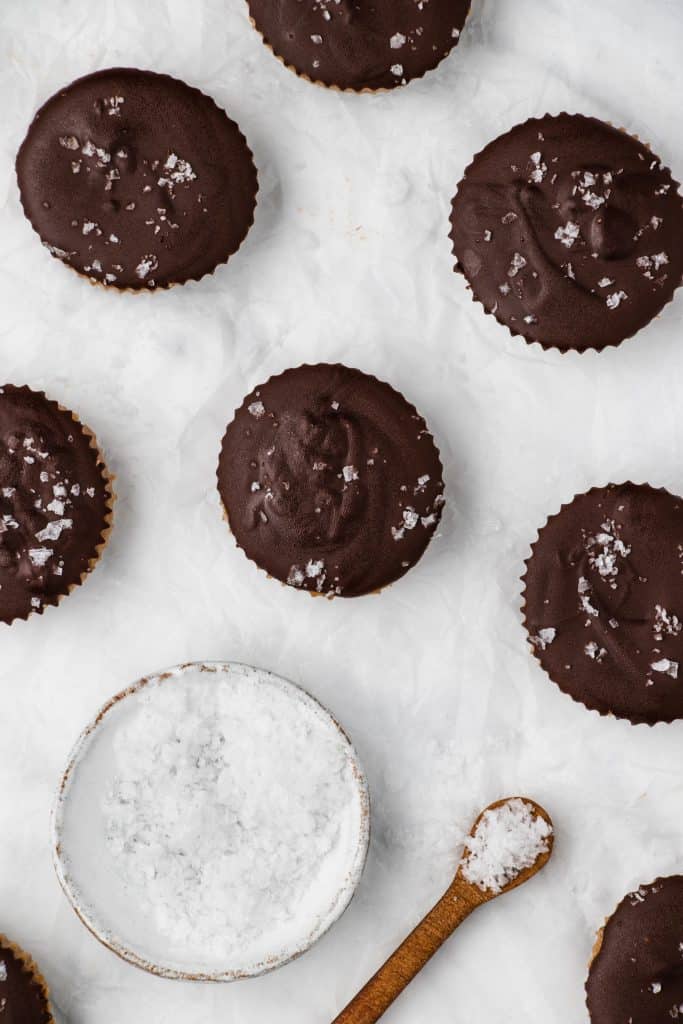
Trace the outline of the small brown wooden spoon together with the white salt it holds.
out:
<instances>
[{"instance_id":1,"label":"small brown wooden spoon together with the white salt it holds","mask_svg":"<svg viewBox=\"0 0 683 1024\"><path fill-rule=\"evenodd\" d=\"M375 1024L473 910L545 867L553 840L550 815L535 801L510 797L490 804L472 825L441 899L333 1024Z\"/></svg>"}]
</instances>

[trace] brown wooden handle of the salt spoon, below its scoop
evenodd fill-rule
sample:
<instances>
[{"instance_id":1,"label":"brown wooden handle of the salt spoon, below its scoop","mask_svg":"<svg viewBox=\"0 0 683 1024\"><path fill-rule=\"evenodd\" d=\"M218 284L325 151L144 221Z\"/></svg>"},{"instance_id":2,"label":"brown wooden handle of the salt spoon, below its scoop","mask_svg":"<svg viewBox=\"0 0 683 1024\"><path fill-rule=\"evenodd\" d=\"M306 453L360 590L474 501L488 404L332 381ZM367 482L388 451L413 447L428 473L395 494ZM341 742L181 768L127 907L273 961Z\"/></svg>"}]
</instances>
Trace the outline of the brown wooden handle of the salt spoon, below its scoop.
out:
<instances>
[{"instance_id":1,"label":"brown wooden handle of the salt spoon, below its scoop","mask_svg":"<svg viewBox=\"0 0 683 1024\"><path fill-rule=\"evenodd\" d=\"M375 1024L458 926L483 902L483 893L456 879L333 1024Z\"/></svg>"}]
</instances>

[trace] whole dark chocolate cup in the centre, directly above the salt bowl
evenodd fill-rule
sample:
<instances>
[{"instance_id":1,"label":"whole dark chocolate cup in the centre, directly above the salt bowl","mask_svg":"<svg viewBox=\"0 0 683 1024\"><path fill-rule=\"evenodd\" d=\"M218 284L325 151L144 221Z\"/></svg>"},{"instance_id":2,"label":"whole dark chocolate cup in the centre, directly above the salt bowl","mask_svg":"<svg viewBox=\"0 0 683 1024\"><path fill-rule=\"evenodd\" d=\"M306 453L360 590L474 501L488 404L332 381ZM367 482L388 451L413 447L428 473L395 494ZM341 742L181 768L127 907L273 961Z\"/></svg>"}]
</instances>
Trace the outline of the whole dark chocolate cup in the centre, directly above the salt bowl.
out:
<instances>
[{"instance_id":1,"label":"whole dark chocolate cup in the centre, directly above the salt bowl","mask_svg":"<svg viewBox=\"0 0 683 1024\"><path fill-rule=\"evenodd\" d=\"M415 565L443 504L438 452L415 408L375 377L327 364L288 370L245 398L218 489L257 565L342 597Z\"/></svg>"}]
</instances>

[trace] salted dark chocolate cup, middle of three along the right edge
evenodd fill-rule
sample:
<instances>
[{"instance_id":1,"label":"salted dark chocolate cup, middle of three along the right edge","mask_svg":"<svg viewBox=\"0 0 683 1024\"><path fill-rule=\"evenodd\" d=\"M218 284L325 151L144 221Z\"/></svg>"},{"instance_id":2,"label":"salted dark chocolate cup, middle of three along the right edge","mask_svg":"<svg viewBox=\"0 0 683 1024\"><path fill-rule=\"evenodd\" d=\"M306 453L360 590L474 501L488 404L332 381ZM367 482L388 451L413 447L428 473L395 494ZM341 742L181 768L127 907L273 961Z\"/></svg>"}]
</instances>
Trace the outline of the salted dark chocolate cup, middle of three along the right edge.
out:
<instances>
[{"instance_id":1,"label":"salted dark chocolate cup, middle of three along the right edge","mask_svg":"<svg viewBox=\"0 0 683 1024\"><path fill-rule=\"evenodd\" d=\"M587 708L683 718L683 500L635 483L574 498L532 547L525 620L550 678Z\"/></svg>"}]
</instances>

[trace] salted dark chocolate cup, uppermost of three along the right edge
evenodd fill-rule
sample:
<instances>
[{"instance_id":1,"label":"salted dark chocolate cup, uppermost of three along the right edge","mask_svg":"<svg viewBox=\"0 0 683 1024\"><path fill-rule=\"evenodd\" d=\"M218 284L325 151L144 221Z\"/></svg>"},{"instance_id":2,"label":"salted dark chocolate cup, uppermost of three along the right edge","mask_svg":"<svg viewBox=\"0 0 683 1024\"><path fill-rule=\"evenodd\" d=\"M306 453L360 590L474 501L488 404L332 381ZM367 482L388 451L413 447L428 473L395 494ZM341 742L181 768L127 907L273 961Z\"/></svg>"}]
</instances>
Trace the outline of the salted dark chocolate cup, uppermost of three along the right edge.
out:
<instances>
[{"instance_id":1,"label":"salted dark chocolate cup, uppermost of three along the right edge","mask_svg":"<svg viewBox=\"0 0 683 1024\"><path fill-rule=\"evenodd\" d=\"M559 349L617 345L681 284L677 189L642 142L602 121L527 121L475 157L458 186L456 268L512 334Z\"/></svg>"}]
</instances>

